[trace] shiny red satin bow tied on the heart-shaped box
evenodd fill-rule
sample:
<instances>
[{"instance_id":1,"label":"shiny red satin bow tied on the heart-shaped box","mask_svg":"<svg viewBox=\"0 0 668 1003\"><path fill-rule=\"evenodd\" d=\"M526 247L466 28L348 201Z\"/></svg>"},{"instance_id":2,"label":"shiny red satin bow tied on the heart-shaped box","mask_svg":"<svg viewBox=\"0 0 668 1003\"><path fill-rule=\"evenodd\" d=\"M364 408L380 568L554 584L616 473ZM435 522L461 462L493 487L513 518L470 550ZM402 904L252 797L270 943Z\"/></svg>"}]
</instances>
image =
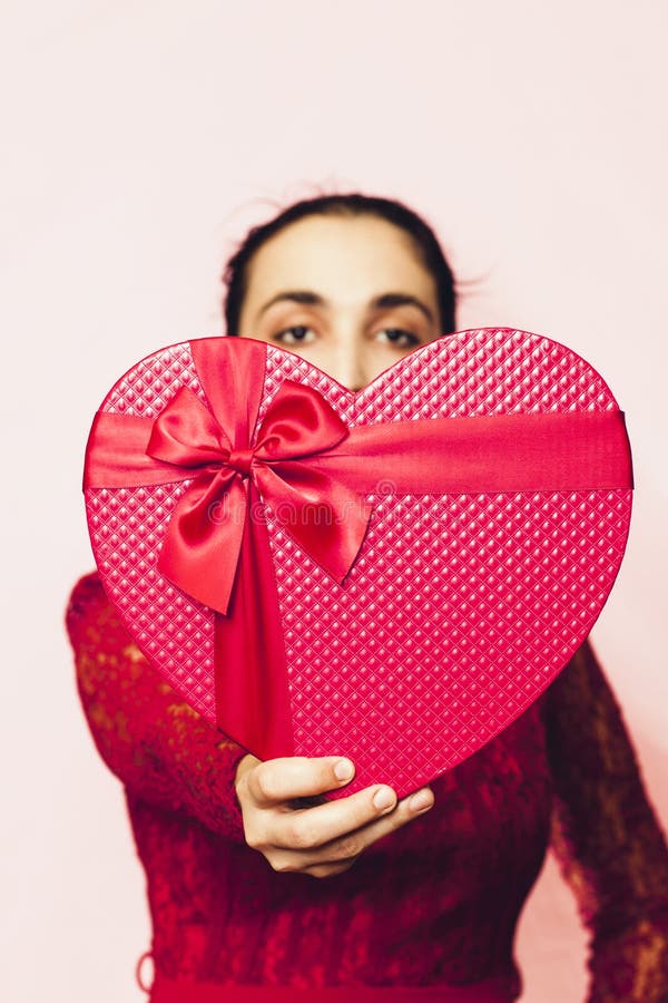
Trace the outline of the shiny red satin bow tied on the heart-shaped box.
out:
<instances>
[{"instance_id":1,"label":"shiny red satin bow tied on the heart-shaped box","mask_svg":"<svg viewBox=\"0 0 668 1003\"><path fill-rule=\"evenodd\" d=\"M277 522L341 583L362 545L371 505L342 479L303 460L347 436L323 397L292 380L281 384L253 446L243 434L228 434L181 387L156 418L146 447L155 459L194 474L169 522L158 569L199 602L227 613L246 520L259 518L258 506L250 505L250 481Z\"/></svg>"}]
</instances>

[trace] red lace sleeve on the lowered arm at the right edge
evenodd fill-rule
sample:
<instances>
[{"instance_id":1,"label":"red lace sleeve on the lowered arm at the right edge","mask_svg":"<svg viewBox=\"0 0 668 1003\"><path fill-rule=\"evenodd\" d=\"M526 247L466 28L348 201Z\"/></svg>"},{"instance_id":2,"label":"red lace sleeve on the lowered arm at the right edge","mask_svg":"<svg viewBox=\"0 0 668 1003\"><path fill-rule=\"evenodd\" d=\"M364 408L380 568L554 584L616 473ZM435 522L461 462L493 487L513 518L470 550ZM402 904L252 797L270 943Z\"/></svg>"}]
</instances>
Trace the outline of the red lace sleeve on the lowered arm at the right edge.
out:
<instances>
[{"instance_id":1,"label":"red lace sleeve on the lowered arm at the right edge","mask_svg":"<svg viewBox=\"0 0 668 1003\"><path fill-rule=\"evenodd\" d=\"M668 848L589 644L544 694L551 848L590 932L588 1003L668 1000Z\"/></svg>"}]
</instances>

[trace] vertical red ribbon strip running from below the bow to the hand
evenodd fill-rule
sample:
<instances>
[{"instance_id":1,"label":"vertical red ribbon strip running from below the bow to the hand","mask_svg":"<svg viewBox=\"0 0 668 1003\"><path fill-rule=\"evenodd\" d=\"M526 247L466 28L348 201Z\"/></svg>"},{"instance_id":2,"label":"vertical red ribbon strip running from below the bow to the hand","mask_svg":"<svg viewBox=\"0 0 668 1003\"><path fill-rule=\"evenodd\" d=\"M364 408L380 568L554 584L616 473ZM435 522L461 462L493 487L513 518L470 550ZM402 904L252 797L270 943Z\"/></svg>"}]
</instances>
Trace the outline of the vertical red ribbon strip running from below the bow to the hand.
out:
<instances>
[{"instance_id":1,"label":"vertical red ribbon strip running from below the bow to the hand","mask_svg":"<svg viewBox=\"0 0 668 1003\"><path fill-rule=\"evenodd\" d=\"M216 718L229 738L258 759L275 759L294 750L287 664L263 506L255 486L248 488L227 616L215 617Z\"/></svg>"}]
</instances>

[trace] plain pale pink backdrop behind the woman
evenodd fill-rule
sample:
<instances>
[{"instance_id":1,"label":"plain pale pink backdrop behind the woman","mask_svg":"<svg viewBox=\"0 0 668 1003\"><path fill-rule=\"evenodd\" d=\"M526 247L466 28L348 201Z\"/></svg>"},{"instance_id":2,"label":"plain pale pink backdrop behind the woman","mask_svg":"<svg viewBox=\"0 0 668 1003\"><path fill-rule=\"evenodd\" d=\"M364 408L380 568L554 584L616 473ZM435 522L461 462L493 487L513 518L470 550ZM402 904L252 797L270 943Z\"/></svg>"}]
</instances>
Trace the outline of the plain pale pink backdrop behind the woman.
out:
<instances>
[{"instance_id":1,"label":"plain pale pink backdrop behind the woman","mask_svg":"<svg viewBox=\"0 0 668 1003\"><path fill-rule=\"evenodd\" d=\"M92 564L84 446L130 364L222 332L233 242L321 188L424 213L469 283L460 328L563 341L627 411L636 507L595 641L666 826L664 4L61 0L3 13L2 410L17 485L1 530L3 999L144 999L143 873L61 624ZM582 1000L584 947L550 855L518 932L522 1001Z\"/></svg>"}]
</instances>

